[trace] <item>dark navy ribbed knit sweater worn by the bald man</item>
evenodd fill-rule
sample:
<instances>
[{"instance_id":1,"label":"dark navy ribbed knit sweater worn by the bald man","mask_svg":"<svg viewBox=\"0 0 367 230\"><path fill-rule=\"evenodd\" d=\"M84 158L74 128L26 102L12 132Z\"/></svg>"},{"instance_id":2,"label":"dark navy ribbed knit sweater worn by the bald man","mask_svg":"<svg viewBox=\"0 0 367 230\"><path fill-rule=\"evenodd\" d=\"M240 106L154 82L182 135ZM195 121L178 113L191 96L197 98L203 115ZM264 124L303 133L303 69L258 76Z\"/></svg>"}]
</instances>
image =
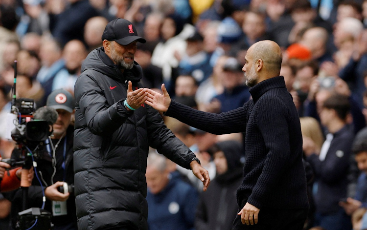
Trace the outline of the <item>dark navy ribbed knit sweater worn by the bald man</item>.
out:
<instances>
[{"instance_id":1,"label":"dark navy ribbed knit sweater worn by the bald man","mask_svg":"<svg viewBox=\"0 0 367 230\"><path fill-rule=\"evenodd\" d=\"M274 77L250 89L252 100L215 114L171 101L164 114L213 134L245 132L246 162L237 190L259 209L308 208L302 164L299 117L284 78Z\"/></svg>"}]
</instances>

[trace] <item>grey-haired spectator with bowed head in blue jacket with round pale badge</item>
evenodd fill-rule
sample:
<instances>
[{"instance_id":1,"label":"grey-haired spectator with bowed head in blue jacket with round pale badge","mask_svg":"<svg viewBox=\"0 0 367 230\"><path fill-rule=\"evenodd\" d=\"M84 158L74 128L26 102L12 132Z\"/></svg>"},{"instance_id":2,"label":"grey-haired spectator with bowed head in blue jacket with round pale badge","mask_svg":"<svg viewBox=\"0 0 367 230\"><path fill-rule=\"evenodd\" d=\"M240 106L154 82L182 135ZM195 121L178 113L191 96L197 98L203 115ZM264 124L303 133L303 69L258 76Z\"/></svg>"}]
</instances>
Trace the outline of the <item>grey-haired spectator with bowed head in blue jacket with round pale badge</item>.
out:
<instances>
[{"instance_id":1,"label":"grey-haired spectator with bowed head in blue jacket with round pale badge","mask_svg":"<svg viewBox=\"0 0 367 230\"><path fill-rule=\"evenodd\" d=\"M170 176L167 159L150 152L146 182L149 230L193 230L198 192L178 177Z\"/></svg>"}]
</instances>

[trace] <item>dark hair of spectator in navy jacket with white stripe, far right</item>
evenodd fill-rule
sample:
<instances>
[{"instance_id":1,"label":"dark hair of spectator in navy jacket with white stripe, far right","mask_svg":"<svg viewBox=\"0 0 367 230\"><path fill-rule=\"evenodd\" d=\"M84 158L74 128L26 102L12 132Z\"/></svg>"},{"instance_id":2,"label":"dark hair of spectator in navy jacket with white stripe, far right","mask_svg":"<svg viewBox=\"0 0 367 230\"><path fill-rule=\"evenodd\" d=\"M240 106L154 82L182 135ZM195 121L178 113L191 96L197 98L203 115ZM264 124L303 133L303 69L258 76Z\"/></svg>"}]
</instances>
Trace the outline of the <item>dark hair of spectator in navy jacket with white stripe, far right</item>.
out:
<instances>
[{"instance_id":1,"label":"dark hair of spectator in navy jacket with white stripe, far right","mask_svg":"<svg viewBox=\"0 0 367 230\"><path fill-rule=\"evenodd\" d=\"M325 100L322 107L334 109L338 117L345 121L346 115L349 113L350 104L347 96L341 94L332 94Z\"/></svg>"}]
</instances>

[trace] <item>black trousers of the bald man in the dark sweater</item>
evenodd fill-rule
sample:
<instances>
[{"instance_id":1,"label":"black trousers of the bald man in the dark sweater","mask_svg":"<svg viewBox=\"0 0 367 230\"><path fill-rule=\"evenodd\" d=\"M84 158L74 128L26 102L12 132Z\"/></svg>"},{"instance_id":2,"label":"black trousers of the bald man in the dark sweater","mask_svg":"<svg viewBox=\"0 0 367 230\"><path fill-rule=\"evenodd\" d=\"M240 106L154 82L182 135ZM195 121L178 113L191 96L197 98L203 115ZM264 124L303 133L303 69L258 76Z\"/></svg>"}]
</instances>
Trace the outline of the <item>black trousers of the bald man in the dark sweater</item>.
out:
<instances>
[{"instance_id":1,"label":"black trousers of the bald man in the dark sweater","mask_svg":"<svg viewBox=\"0 0 367 230\"><path fill-rule=\"evenodd\" d=\"M238 212L246 201L241 202L244 204ZM241 216L237 215L232 230L303 230L307 213L308 209L260 209L257 224L242 224Z\"/></svg>"}]
</instances>

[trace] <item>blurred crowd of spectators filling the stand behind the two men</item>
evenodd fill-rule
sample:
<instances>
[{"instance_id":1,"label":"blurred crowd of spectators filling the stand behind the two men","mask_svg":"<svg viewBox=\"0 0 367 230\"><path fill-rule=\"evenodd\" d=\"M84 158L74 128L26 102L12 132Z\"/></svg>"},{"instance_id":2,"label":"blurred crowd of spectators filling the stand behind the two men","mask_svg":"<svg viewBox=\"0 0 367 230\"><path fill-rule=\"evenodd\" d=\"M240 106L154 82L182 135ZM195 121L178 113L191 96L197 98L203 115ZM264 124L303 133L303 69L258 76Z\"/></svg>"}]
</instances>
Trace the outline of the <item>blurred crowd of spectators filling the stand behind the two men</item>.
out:
<instances>
[{"instance_id":1,"label":"blurred crowd of spectators filling the stand behind the two men","mask_svg":"<svg viewBox=\"0 0 367 230\"><path fill-rule=\"evenodd\" d=\"M3 128L14 61L17 98L39 108L54 90L73 95L83 60L102 46L104 28L115 18L131 21L147 41L138 43L134 58L144 86L160 91L164 83L175 101L207 112L250 100L246 51L261 40L277 42L280 75L301 120L311 206L305 230L367 229L367 0L1 0L2 158L15 146ZM246 161L244 135L217 136L164 120L212 183L203 193L191 172L151 149L150 229L229 230ZM10 207L0 193L1 230L8 228Z\"/></svg>"}]
</instances>

